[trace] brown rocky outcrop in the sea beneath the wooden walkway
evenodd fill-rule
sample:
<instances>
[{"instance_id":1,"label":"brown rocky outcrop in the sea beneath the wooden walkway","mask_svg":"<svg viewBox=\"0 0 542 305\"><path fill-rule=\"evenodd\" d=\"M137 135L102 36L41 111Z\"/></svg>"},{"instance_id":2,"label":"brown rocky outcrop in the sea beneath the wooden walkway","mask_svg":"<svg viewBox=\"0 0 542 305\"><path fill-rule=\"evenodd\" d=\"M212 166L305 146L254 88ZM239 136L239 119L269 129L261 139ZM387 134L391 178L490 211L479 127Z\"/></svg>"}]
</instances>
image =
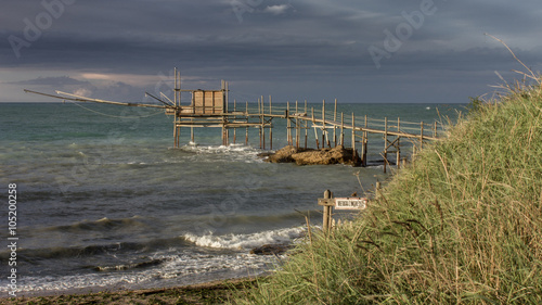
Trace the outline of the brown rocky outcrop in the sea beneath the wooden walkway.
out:
<instances>
[{"instance_id":1,"label":"brown rocky outcrop in the sea beneath the wooden walkway","mask_svg":"<svg viewBox=\"0 0 542 305\"><path fill-rule=\"evenodd\" d=\"M266 161L271 163L296 163L297 165L346 164L359 166L361 164L358 153L343 145L320 150L305 150L288 145L278 150L274 154L270 154Z\"/></svg>"}]
</instances>

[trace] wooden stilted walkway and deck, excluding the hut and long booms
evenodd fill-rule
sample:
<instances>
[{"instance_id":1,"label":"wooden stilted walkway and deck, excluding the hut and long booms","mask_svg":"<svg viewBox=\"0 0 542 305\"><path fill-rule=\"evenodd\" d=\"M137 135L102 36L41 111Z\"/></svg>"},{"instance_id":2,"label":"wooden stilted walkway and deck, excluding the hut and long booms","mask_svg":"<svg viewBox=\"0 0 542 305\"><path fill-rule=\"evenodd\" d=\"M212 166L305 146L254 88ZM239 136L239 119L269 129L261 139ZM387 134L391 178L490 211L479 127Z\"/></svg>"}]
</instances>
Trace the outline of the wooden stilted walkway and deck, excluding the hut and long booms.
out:
<instances>
[{"instance_id":1,"label":"wooden stilted walkway and deck, excluding the hut and long booms","mask_svg":"<svg viewBox=\"0 0 542 305\"><path fill-rule=\"evenodd\" d=\"M423 147L424 142L437 140L443 127L434 122L412 123L402 122L400 118L393 120L370 118L366 115L357 117L353 113L345 114L337 112L337 100L333 103L333 110L326 110L328 105L322 102L322 107L309 107L307 102L299 105L298 102L273 105L271 97L266 104L263 98L258 99L257 104L245 102L240 110L236 101L233 110L224 113L209 114L182 114L175 111L167 111L168 115L175 117L175 142L180 145L181 128L190 128L191 141L195 142L194 128L218 127L222 129L222 144L240 142L240 135L244 130L244 143L248 144L248 129L257 128L259 148L262 150L273 149L274 119L286 119L286 140L288 145L296 148L309 147L310 141L314 141L314 147L333 148L336 145L349 145L360 151L359 155L362 165L367 164L367 148L371 135L379 135L384 139L384 147L380 156L384 160L384 171L395 164L400 167L401 139L411 143L415 149ZM313 134L313 136L312 136ZM241 136L243 137L243 136ZM243 140L242 140L243 141ZM374 144L374 143L373 143ZM402 143L404 145L404 143ZM395 161L389 158L389 154L395 154Z\"/></svg>"}]
</instances>

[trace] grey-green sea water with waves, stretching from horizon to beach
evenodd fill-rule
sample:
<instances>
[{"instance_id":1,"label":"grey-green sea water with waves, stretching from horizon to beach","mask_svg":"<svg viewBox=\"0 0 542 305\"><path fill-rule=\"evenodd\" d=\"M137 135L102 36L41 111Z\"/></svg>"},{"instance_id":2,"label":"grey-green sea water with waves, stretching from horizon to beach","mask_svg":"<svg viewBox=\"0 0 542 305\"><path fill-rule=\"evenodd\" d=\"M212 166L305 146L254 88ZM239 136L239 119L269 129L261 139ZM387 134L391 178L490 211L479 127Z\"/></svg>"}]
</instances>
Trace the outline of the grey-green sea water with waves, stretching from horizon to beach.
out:
<instances>
[{"instance_id":1,"label":"grey-green sea water with waves, stretching from horizon to beach","mask_svg":"<svg viewBox=\"0 0 542 305\"><path fill-rule=\"evenodd\" d=\"M339 112L360 119L366 114L374 124L400 116L401 126L454 118L456 109L462 106L339 104ZM306 215L320 226L317 201L326 189L336 196L362 194L390 175L382 165L266 163L257 156L256 129L249 130L248 145L242 129L237 143L228 147L220 145L218 128L197 128L195 143L183 129L181 148L172 149L172 118L156 110L87 103L0 104L0 110L2 202L10 183L17 191L17 295L260 275L287 257L251 255L250 249L296 242ZM286 144L286 123L273 124L278 149ZM372 136L370 161L382 158L383 145L382 136ZM8 296L14 254L7 246L9 207L2 206L0 293Z\"/></svg>"}]
</instances>

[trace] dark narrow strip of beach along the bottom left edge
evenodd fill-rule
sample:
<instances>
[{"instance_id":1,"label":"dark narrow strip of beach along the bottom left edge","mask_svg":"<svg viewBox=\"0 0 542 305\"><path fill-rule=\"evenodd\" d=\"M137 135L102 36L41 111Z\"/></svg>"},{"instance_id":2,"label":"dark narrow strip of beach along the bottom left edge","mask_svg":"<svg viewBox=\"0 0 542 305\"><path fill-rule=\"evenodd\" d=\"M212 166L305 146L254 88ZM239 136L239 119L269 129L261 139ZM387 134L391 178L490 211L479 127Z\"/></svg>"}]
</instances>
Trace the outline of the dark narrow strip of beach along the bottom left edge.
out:
<instances>
[{"instance_id":1,"label":"dark narrow strip of beach along the bottom left edge","mask_svg":"<svg viewBox=\"0 0 542 305\"><path fill-rule=\"evenodd\" d=\"M221 304L257 287L257 278L217 280L171 288L56 292L47 295L0 297L2 304ZM184 303L182 303L184 302Z\"/></svg>"}]
</instances>

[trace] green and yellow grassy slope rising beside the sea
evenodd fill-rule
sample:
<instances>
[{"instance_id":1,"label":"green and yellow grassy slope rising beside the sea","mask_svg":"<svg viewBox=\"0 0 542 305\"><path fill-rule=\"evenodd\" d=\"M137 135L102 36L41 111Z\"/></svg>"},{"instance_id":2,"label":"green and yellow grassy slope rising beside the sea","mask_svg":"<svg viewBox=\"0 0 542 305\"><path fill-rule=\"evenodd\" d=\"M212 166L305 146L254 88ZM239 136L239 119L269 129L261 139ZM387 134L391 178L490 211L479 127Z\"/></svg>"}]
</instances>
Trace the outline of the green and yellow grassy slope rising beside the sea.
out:
<instances>
[{"instance_id":1,"label":"green and yellow grassy slope rising beside the sea","mask_svg":"<svg viewBox=\"0 0 542 305\"><path fill-rule=\"evenodd\" d=\"M509 88L508 88L509 89ZM240 304L542 304L542 87L478 103Z\"/></svg>"}]
</instances>

